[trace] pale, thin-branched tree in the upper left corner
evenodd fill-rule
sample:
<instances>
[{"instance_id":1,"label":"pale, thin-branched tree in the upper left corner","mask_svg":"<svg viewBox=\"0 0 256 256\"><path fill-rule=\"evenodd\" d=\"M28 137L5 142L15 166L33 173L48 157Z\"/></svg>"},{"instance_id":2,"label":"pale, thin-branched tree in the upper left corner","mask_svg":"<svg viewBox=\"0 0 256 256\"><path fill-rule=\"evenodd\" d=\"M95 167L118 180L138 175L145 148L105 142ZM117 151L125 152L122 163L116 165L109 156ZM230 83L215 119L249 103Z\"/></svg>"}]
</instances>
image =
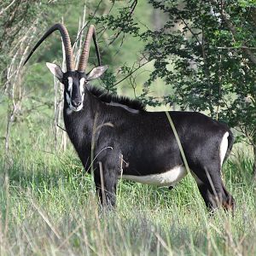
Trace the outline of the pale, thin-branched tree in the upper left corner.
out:
<instances>
[{"instance_id":1,"label":"pale, thin-branched tree in the upper left corner","mask_svg":"<svg viewBox=\"0 0 256 256\"><path fill-rule=\"evenodd\" d=\"M9 133L15 115L20 112L23 88L21 67L43 6L38 1L5 1L0 9L0 89L8 102L5 149L9 149ZM39 15L40 17L40 15Z\"/></svg>"}]
</instances>

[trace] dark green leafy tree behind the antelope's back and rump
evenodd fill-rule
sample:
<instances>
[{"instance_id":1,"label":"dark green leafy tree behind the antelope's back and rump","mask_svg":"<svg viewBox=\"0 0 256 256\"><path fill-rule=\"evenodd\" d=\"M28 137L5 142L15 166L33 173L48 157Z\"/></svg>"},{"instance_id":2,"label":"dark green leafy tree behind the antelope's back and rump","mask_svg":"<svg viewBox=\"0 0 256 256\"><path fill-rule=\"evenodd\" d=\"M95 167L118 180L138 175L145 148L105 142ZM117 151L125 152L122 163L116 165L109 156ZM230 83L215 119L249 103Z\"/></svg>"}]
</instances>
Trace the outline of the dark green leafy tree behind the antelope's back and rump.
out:
<instances>
[{"instance_id":1,"label":"dark green leafy tree behind the antelope's back and rump","mask_svg":"<svg viewBox=\"0 0 256 256\"><path fill-rule=\"evenodd\" d=\"M160 31L141 34L156 78L174 88L166 104L209 111L253 146L256 178L255 1L154 1L169 16ZM146 95L146 93L145 93Z\"/></svg>"}]
</instances>

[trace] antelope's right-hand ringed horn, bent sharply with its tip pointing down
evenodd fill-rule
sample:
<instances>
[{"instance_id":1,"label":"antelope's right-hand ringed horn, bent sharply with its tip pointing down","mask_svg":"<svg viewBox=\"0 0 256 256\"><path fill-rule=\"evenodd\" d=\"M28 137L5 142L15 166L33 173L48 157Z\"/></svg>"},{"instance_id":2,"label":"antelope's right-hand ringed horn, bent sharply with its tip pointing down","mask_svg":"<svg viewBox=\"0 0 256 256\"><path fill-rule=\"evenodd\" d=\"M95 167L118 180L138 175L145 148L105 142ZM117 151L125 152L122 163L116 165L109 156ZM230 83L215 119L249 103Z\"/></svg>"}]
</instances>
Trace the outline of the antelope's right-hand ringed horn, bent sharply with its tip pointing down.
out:
<instances>
[{"instance_id":1,"label":"antelope's right-hand ringed horn, bent sharply with its tip pointing down","mask_svg":"<svg viewBox=\"0 0 256 256\"><path fill-rule=\"evenodd\" d=\"M93 42L95 44L98 64L99 64L99 66L101 66L101 56L100 56L99 46L98 46L98 43L97 43L95 26L90 25L90 27L88 29L88 32L87 32L87 35L86 35L86 39L84 41L84 45L83 45L82 53L81 53L81 56L80 56L80 60L79 60L79 67L78 67L79 72L84 72L86 67L87 67L89 53L90 53L91 37L93 38Z\"/></svg>"}]
</instances>

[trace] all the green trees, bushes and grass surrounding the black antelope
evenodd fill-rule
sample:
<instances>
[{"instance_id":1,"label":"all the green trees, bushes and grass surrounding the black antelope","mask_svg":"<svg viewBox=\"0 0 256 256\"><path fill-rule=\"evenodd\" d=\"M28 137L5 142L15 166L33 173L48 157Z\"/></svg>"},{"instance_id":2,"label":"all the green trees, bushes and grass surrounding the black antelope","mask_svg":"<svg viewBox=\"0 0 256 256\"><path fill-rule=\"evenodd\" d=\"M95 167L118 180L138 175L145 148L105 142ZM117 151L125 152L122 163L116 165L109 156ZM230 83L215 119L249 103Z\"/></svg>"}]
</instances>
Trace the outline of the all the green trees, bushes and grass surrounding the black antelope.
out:
<instances>
[{"instance_id":1,"label":"all the green trees, bushes and grass surrounding the black antelope","mask_svg":"<svg viewBox=\"0 0 256 256\"><path fill-rule=\"evenodd\" d=\"M3 255L253 255L256 253L255 10L248 1L21 1L0 3L0 253ZM22 61L46 27L96 23L111 93L148 109L204 111L236 133L224 180L236 213L209 216L188 175L175 189L121 181L102 212L61 119L61 39ZM86 30L86 29L85 29ZM84 32L81 33L84 38ZM93 49L90 64L96 56ZM161 107L159 107L161 106ZM254 151L253 151L254 150ZM253 164L254 163L254 164ZM254 166L254 167L253 167Z\"/></svg>"}]
</instances>

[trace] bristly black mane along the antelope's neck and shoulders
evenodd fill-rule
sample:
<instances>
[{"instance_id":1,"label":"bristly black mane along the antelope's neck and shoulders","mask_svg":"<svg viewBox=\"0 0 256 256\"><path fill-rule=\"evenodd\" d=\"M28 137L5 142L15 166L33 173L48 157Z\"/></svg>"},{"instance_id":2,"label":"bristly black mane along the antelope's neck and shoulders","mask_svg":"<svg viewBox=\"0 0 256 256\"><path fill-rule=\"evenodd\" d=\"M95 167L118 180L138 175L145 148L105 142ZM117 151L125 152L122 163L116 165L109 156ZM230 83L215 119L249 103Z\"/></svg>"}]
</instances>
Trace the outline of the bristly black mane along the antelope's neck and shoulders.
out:
<instances>
[{"instance_id":1,"label":"bristly black mane along the antelope's neck and shoulders","mask_svg":"<svg viewBox=\"0 0 256 256\"><path fill-rule=\"evenodd\" d=\"M102 102L106 102L106 103L115 102L121 105L125 105L128 108L132 108L139 111L146 111L146 106L142 102L139 102L138 100L131 100L130 98L125 96L111 95L105 92L104 90L96 88L95 86L91 86L91 85L87 86L87 89L90 91L92 95L99 98Z\"/></svg>"}]
</instances>

